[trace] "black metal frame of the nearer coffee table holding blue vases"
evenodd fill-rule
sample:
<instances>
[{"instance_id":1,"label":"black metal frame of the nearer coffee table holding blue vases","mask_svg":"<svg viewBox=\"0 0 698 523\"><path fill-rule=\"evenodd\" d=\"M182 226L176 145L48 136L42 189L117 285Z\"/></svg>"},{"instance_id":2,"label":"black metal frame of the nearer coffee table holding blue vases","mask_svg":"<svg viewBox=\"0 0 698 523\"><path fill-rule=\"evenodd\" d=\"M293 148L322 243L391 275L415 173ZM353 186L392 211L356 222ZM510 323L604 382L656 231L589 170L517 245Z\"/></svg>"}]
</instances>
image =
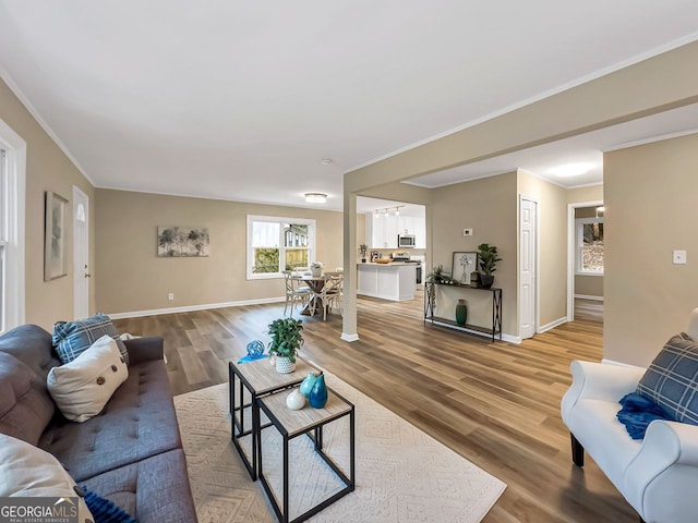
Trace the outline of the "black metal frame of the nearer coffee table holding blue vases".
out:
<instances>
[{"instance_id":1,"label":"black metal frame of the nearer coffee table holding blue vases","mask_svg":"<svg viewBox=\"0 0 698 523\"><path fill-rule=\"evenodd\" d=\"M329 388L328 388L329 389ZM332 389L329 389L332 390ZM334 390L332 391L337 398L347 403L351 409L347 412L337 414L335 416L327 417L322 419L313 425L310 425L305 430L302 430L298 434L294 434L289 437L288 431L284 427L284 425L274 416L274 414L266 408L266 405L257 399L257 403L260 403L260 409L264 411L264 414L270 419L272 423L265 425L261 428L266 428L269 426L276 427L281 437L284 438L284 487L282 487L282 497L284 497L284 508L279 507L278 501L276 500L276 496L272 489L272 486L268 484L266 477L264 476L264 470L262 467L262 445L260 445L260 469L258 469L258 478L264 487L264 490L274 508L274 512L276 512L276 516L282 523L300 523L301 521L305 521L309 518L315 515L321 510L326 507L329 507L332 503L337 501L339 498L345 497L347 494L351 492L356 488L356 428L354 428L354 405L353 403L347 401L345 398L336 393ZM337 464L323 451L323 426L332 423L334 421L340 419L345 416L349 416L349 477L337 466ZM311 430L314 433L314 436L311 435ZM337 476L345 484L345 488L335 492L327 499L323 500L318 504L310 508L302 514L298 515L293 520L289 520L288 514L288 504L289 504L289 485L288 485L288 443L291 439L297 438L299 436L308 435L308 437L313 440L315 452L327 463L327 465L337 474ZM258 436L261 438L261 435Z\"/></svg>"}]
</instances>

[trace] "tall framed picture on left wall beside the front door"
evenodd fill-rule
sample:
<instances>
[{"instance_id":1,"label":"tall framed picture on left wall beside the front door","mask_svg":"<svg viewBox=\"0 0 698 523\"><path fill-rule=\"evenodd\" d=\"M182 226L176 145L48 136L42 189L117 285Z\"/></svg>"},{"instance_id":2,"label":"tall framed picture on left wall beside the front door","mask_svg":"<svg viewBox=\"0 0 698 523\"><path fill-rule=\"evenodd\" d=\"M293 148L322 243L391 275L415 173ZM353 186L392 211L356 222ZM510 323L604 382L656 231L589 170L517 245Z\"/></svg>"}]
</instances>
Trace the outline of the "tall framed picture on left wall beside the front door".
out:
<instances>
[{"instance_id":1,"label":"tall framed picture on left wall beside the front door","mask_svg":"<svg viewBox=\"0 0 698 523\"><path fill-rule=\"evenodd\" d=\"M65 259L65 221L68 200L46 193L46 222L44 228L44 281L68 276Z\"/></svg>"}]
</instances>

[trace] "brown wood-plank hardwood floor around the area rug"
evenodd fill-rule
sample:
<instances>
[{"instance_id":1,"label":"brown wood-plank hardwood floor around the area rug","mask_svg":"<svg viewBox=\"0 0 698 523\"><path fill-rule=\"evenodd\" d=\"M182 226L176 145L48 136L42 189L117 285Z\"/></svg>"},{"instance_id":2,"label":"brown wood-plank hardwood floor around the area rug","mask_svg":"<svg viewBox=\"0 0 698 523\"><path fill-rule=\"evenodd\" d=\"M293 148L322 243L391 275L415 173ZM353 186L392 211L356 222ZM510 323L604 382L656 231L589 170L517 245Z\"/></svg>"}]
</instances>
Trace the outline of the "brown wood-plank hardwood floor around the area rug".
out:
<instances>
[{"instance_id":1,"label":"brown wood-plank hardwood floor around the area rug","mask_svg":"<svg viewBox=\"0 0 698 523\"><path fill-rule=\"evenodd\" d=\"M360 340L339 340L341 319L304 318L301 355L420 427L508 487L485 518L497 522L637 521L591 459L573 465L559 401L574 358L600 361L602 324L583 314L516 345L422 323L422 302L360 299ZM166 339L174 393L227 380L227 362L282 304L116 321L122 332ZM329 384L332 386L332 384ZM360 449L359 449L360 451Z\"/></svg>"}]
</instances>

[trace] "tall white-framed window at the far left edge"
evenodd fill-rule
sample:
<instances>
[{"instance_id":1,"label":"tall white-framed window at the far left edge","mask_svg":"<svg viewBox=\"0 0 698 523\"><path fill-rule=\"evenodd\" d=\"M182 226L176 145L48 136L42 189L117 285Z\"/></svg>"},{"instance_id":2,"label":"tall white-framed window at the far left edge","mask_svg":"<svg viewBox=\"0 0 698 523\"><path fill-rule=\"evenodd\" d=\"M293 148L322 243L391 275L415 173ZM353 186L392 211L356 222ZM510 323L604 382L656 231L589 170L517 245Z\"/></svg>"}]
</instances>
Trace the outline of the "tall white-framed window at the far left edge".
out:
<instances>
[{"instance_id":1,"label":"tall white-framed window at the far left edge","mask_svg":"<svg viewBox=\"0 0 698 523\"><path fill-rule=\"evenodd\" d=\"M0 120L0 332L24 323L26 143Z\"/></svg>"}]
</instances>

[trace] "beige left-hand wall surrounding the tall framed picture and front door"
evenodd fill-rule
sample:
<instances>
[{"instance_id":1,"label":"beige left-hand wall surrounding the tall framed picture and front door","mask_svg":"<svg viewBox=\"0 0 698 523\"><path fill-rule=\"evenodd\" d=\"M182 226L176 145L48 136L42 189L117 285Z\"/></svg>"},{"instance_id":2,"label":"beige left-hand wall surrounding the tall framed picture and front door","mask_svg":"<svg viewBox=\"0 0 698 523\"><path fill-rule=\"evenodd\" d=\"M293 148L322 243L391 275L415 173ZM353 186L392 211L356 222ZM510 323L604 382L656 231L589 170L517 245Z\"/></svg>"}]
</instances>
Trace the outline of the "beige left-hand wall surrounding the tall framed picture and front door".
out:
<instances>
[{"instance_id":1,"label":"beige left-hand wall surrounding the tall framed picture and front door","mask_svg":"<svg viewBox=\"0 0 698 523\"><path fill-rule=\"evenodd\" d=\"M73 199L73 185L89 197L94 216L94 190L51 137L40 127L12 90L0 80L0 119L27 144L25 222L25 320L51 329L59 319L73 319L72 209L67 232L68 277L44 281L44 202L46 191ZM94 265L94 221L89 227L89 259ZM91 289L91 311L94 309Z\"/></svg>"}]
</instances>

